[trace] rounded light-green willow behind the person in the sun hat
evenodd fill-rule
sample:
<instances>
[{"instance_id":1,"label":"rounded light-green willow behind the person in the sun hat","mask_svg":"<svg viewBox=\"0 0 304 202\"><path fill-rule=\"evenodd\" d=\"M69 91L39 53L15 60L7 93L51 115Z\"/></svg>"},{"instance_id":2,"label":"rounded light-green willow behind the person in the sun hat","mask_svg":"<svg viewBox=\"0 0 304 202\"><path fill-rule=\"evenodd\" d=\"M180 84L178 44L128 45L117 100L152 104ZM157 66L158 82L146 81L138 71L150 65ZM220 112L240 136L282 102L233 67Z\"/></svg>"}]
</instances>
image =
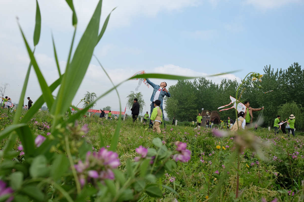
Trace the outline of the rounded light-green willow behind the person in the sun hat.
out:
<instances>
[{"instance_id":1,"label":"rounded light-green willow behind the person in the sun hat","mask_svg":"<svg viewBox=\"0 0 304 202\"><path fill-rule=\"evenodd\" d=\"M303 108L301 104L297 104L296 102L287 102L285 104L281 104L278 107L277 115L281 116L281 121L285 120L293 114L295 116L295 128L296 129L303 129ZM274 120L274 118L273 118Z\"/></svg>"}]
</instances>

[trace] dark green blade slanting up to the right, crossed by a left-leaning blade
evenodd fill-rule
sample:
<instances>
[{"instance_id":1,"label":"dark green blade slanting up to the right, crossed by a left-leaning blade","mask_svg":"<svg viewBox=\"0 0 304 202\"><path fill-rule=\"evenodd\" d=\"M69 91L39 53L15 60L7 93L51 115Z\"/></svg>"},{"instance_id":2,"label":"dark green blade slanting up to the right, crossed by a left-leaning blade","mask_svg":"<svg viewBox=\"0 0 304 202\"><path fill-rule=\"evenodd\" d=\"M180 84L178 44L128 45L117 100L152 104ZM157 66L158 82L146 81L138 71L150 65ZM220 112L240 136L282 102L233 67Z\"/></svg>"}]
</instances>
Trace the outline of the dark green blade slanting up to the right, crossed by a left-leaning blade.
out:
<instances>
[{"instance_id":1,"label":"dark green blade slanting up to the right, crossed by a left-leaning blade","mask_svg":"<svg viewBox=\"0 0 304 202\"><path fill-rule=\"evenodd\" d=\"M53 92L60 85L60 83L61 83L61 78L58 78L56 81L54 81L54 83L50 85L51 92ZM45 101L43 99L43 95L41 95L36 100L35 104L33 104L33 106L29 109L29 111L27 111L26 114L24 114L24 117L21 119L20 123L27 123L33 117L33 115L39 110L39 108L42 107L44 102Z\"/></svg>"}]
</instances>

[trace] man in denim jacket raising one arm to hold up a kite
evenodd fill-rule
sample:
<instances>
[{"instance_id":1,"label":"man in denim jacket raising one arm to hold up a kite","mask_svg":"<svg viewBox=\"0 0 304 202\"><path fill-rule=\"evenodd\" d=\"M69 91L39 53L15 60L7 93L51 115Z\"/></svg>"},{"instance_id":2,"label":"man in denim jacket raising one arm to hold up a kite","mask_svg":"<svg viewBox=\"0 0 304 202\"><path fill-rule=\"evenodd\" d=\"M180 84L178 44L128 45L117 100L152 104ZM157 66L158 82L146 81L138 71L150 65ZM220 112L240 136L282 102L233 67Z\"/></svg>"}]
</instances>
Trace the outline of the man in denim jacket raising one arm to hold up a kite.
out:
<instances>
[{"instance_id":1,"label":"man in denim jacket raising one arm to hold up a kite","mask_svg":"<svg viewBox=\"0 0 304 202\"><path fill-rule=\"evenodd\" d=\"M163 122L164 122L164 127L166 126L165 124L165 118L164 118L164 111L163 111L163 100L164 100L164 96L166 95L168 98L171 96L171 94L169 93L169 91L166 89L167 87L167 83L166 82L161 82L160 85L156 85L154 83L152 83L148 78L146 78L148 84L150 84L152 87L153 87L153 93L152 93L152 96L151 96L151 99L150 101L152 102L151 103L151 111L150 111L150 117L151 117L151 114L152 114L152 111L154 109L154 101L155 100L160 100L161 101L161 111L163 113ZM149 123L149 127L153 127L153 123L150 119L150 123Z\"/></svg>"}]
</instances>

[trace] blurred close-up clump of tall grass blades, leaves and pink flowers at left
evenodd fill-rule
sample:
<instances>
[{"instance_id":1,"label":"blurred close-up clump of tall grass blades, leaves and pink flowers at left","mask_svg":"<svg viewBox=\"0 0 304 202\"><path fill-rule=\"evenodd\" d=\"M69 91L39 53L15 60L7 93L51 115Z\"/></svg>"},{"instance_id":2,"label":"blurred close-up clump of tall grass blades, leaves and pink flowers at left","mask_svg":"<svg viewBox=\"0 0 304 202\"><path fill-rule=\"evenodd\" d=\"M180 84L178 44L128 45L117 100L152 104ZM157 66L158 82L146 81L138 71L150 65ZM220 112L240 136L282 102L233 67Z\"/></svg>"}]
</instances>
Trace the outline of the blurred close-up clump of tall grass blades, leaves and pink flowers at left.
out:
<instances>
[{"instance_id":1,"label":"blurred close-up clump of tall grass blades, leaves and pink flowers at left","mask_svg":"<svg viewBox=\"0 0 304 202\"><path fill-rule=\"evenodd\" d=\"M152 140L154 148L147 149L139 146L136 152L140 156L135 162L129 159L126 164L126 172L122 172L117 169L120 162L115 152L121 127L121 114L109 150L102 147L104 143L101 135L99 138L102 148L99 151L92 152L92 146L81 139L81 136L88 132L88 128L85 125L79 126L78 120L91 108L93 103L78 110L78 113L73 115L70 107L76 107L71 106L70 103L85 76L94 49L105 32L111 13L99 31L102 8L100 0L74 53L72 53L78 19L72 0L66 0L66 2L72 11L74 32L64 73L60 72L55 41L52 36L59 78L50 86L47 85L34 55L40 40L41 29L38 1L36 1L33 49L18 22L30 58L19 103L23 102L32 66L39 81L42 95L24 116L21 116L21 104L18 105L15 113L9 114L8 112L8 115L13 118L13 124L0 133L0 139L6 140L5 147L0 152L0 183L7 192L0 194L0 201L129 201L137 200L143 192L151 197L161 197L159 186L178 196L178 193L171 187L158 184L157 179L164 174L165 170L171 171L176 167L171 155L174 154L174 160L180 162L185 162L190 157L188 156L190 151L185 148L185 143L176 142L176 150L169 151L159 138L155 138ZM100 62L99 64L101 65ZM137 75L125 81L133 78L192 79L195 77L146 74ZM117 85L111 81L113 87L100 95L95 102L113 90L116 90L119 96L116 88L125 81ZM54 99L52 93L57 87L59 87L59 91ZM27 123L32 120L34 114L45 102L52 118L50 132L35 137ZM5 111L1 111L5 113ZM66 111L68 111L68 118L64 118ZM21 144L16 144L16 140L19 140ZM16 147L22 151L20 155L24 155L22 162L16 158L19 154ZM49 189L53 190L52 194L49 194Z\"/></svg>"}]
</instances>

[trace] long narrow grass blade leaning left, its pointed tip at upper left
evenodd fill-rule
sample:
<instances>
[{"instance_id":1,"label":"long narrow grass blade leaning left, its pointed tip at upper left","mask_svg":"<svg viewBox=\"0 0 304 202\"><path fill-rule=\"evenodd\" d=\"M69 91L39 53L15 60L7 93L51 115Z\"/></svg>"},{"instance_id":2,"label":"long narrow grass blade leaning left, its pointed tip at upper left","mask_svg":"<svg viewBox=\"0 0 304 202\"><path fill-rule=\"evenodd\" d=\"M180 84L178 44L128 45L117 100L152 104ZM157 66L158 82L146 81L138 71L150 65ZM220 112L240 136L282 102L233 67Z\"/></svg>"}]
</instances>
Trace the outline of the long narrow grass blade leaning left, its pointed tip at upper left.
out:
<instances>
[{"instance_id":1,"label":"long narrow grass blade leaning left, its pointed tip at upper left","mask_svg":"<svg viewBox=\"0 0 304 202\"><path fill-rule=\"evenodd\" d=\"M18 23L19 25L19 23ZM29 48L29 44L27 43L26 41L26 38L23 34L23 31L21 29L21 26L19 25L19 28L20 28L20 31L21 31L21 34L22 34L22 37L23 37L23 40L25 42L25 45L26 45L26 49L27 49L27 52L29 54L29 57L31 58L31 62L33 64L33 67L35 69L35 72L36 72L36 75L37 75L37 78L38 78L38 81L39 81L39 84L40 84L40 88L41 88L41 91L42 91L42 94L43 94L43 97L44 97L44 100L46 101L47 103L47 106L50 108L54 102L54 98L52 96L52 93L50 91L50 88L48 87L47 85L47 82L45 81L39 67L38 67L38 64L36 62L36 59L34 57L34 54L33 52L31 51L31 49Z\"/></svg>"}]
</instances>

